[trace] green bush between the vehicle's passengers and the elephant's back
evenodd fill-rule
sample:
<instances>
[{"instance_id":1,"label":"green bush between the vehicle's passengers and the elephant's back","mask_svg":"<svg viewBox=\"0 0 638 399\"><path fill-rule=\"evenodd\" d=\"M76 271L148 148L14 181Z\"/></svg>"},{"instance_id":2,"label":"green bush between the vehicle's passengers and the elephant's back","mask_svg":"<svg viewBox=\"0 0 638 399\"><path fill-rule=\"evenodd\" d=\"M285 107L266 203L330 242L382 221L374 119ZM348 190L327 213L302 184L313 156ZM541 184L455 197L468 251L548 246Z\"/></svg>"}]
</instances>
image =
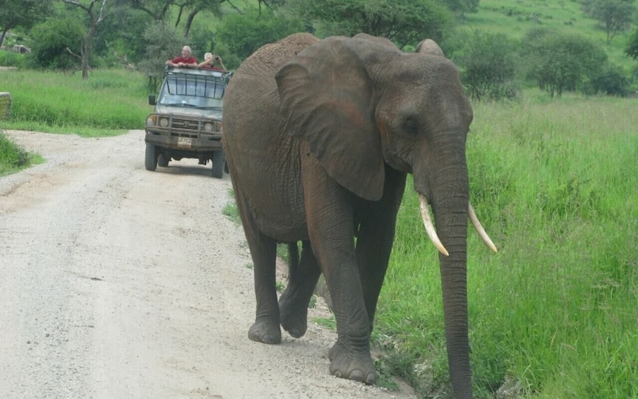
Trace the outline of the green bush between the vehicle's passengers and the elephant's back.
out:
<instances>
[{"instance_id":1,"label":"green bush between the vehicle's passengers and the elephant's back","mask_svg":"<svg viewBox=\"0 0 638 399\"><path fill-rule=\"evenodd\" d=\"M217 29L219 54L228 69L236 69L243 59L264 44L276 42L295 32L303 32L301 20L266 9L246 8L243 14L229 14Z\"/></svg>"}]
</instances>

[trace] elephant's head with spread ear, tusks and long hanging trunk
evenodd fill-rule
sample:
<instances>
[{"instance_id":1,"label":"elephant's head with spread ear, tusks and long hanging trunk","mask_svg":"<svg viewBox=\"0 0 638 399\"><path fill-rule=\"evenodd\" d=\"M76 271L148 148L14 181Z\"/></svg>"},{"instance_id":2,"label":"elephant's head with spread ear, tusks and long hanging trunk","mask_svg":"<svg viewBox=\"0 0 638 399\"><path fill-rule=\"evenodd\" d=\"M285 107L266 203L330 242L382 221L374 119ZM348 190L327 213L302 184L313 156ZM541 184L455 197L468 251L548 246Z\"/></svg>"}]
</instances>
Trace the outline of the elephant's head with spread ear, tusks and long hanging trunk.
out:
<instances>
[{"instance_id":1,"label":"elephant's head with spread ear, tusks and long hanging trunk","mask_svg":"<svg viewBox=\"0 0 638 399\"><path fill-rule=\"evenodd\" d=\"M386 167L413 174L428 236L441 252L452 386L469 398L466 248L467 220L475 218L465 145L473 112L457 68L436 44L440 54L433 47L404 53L388 42L329 37L299 52L275 76L281 114L287 133L356 196L380 200L392 178Z\"/></svg>"}]
</instances>

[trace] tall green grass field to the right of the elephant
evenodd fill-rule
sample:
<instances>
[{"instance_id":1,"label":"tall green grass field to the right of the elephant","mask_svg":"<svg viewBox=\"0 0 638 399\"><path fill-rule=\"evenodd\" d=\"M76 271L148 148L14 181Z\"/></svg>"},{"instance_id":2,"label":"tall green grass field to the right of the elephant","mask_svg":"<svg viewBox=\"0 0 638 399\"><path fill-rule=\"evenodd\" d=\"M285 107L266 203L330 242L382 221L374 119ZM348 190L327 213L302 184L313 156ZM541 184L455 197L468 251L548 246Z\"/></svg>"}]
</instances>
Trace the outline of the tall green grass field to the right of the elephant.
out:
<instances>
[{"instance_id":1,"label":"tall green grass field to the right of the elephant","mask_svg":"<svg viewBox=\"0 0 638 399\"><path fill-rule=\"evenodd\" d=\"M475 391L638 398L638 100L545 100L474 105L471 198L500 249L469 232ZM447 389L437 258L409 188L376 325L422 395Z\"/></svg>"}]
</instances>

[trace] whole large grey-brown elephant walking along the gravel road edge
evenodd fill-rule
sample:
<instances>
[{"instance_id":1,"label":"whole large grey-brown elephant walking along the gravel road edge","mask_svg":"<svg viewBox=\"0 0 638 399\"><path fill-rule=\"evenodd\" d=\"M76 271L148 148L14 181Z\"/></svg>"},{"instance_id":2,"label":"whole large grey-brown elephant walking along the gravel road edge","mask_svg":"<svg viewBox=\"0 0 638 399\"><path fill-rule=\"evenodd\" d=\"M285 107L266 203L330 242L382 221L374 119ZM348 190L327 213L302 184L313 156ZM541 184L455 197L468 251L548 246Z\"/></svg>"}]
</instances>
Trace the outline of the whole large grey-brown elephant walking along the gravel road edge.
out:
<instances>
[{"instance_id":1,"label":"whole large grey-brown elephant walking along the gravel road edge","mask_svg":"<svg viewBox=\"0 0 638 399\"><path fill-rule=\"evenodd\" d=\"M280 325L295 338L306 333L323 272L337 319L330 372L374 383L370 334L412 173L450 252L439 256L450 373L457 398L471 398L465 142L472 109L445 57L376 39L291 35L248 57L229 83L224 147L255 274L248 336L276 344ZM299 241L301 258L294 244L277 303L277 242Z\"/></svg>"}]
</instances>

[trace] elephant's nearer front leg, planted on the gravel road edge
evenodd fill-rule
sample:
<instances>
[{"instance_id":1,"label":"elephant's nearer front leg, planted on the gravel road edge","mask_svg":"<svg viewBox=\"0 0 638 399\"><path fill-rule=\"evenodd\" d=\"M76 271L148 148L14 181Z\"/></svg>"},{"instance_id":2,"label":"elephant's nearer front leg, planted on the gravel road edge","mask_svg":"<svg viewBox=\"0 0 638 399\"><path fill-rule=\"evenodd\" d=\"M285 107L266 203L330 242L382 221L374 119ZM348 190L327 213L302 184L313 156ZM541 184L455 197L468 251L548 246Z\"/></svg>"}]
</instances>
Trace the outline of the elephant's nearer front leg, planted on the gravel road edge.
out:
<instances>
[{"instance_id":1,"label":"elephant's nearer front leg, planted on the gravel road edge","mask_svg":"<svg viewBox=\"0 0 638 399\"><path fill-rule=\"evenodd\" d=\"M330 350L330 373L373 384L370 324L356 263L351 193L318 165L306 166L309 176L303 179L303 189L308 234L337 318L337 343Z\"/></svg>"}]
</instances>

